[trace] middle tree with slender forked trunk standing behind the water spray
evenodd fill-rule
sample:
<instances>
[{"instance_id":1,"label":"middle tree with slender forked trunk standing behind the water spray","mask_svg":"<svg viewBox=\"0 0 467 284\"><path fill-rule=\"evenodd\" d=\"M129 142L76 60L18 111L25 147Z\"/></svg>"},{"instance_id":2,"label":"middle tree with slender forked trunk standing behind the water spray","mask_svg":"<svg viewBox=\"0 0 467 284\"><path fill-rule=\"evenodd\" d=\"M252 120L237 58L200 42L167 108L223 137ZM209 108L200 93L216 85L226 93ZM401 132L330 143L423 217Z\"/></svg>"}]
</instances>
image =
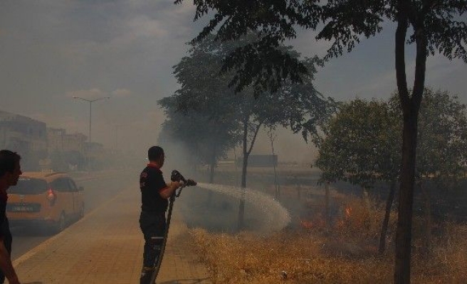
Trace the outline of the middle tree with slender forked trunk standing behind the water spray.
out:
<instances>
[{"instance_id":1,"label":"middle tree with slender forked trunk standing behind the water spray","mask_svg":"<svg viewBox=\"0 0 467 284\"><path fill-rule=\"evenodd\" d=\"M234 89L229 87L233 74L224 72L219 75L222 62L238 45L245 45L256 38L255 33L248 33L239 40L222 44L211 37L192 42L190 56L182 59L175 68L177 79L182 83L182 88L177 90L173 98L177 109L199 111L214 123L219 120L231 121L232 125L238 127L236 133L241 133L243 152L243 189L246 188L248 157L261 128L283 126L295 133L300 132L305 139L314 140L318 137L319 126L332 113L334 105L332 99L322 96L313 86L315 67L312 60L307 63L311 74L301 84L288 80L278 92L263 92L256 99L251 95L253 87L244 88L241 93L235 94ZM293 58L300 56L290 46L281 45L279 48ZM203 64L197 64L199 62ZM241 200L239 229L243 228L243 210L244 201Z\"/></svg>"}]
</instances>

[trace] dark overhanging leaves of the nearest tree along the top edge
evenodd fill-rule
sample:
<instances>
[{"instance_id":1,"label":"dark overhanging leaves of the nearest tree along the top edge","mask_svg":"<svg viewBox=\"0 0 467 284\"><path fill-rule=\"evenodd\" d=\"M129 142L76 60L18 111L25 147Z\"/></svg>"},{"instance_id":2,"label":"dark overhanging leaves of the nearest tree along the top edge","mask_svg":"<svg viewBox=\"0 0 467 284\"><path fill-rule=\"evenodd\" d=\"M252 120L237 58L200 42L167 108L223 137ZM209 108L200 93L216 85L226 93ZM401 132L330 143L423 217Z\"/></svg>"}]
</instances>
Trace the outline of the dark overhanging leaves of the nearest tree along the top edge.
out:
<instances>
[{"instance_id":1,"label":"dark overhanging leaves of the nearest tree along the top edge","mask_svg":"<svg viewBox=\"0 0 467 284\"><path fill-rule=\"evenodd\" d=\"M300 62L278 48L296 38L298 29L318 31L317 40L329 40L325 59L330 59L352 51L362 38L382 32L384 23L400 18L405 31L413 27L406 43L416 43L422 29L427 52L467 62L467 26L461 18L467 11L465 0L199 0L195 6L195 21L203 16L211 20L194 41L212 33L216 40L238 40L249 31L258 31L257 40L238 46L224 61L224 70L236 70L231 84L239 89L254 85L275 90L283 78L300 81L308 74L307 60Z\"/></svg>"}]
</instances>

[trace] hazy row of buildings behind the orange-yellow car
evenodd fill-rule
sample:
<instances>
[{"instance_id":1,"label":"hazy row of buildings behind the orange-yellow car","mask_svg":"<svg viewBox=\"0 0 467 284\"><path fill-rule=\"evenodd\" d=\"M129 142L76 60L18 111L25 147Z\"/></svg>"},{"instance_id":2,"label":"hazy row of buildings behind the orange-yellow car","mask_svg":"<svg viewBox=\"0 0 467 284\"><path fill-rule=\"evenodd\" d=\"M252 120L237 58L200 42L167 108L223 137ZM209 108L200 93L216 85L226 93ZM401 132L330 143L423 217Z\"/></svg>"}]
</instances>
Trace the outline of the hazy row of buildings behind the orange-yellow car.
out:
<instances>
[{"instance_id":1,"label":"hazy row of buildings behind the orange-yellow car","mask_svg":"<svg viewBox=\"0 0 467 284\"><path fill-rule=\"evenodd\" d=\"M23 170L80 170L102 168L105 149L88 143L82 133L48 128L46 123L0 111L0 148L21 155Z\"/></svg>"}]
</instances>

